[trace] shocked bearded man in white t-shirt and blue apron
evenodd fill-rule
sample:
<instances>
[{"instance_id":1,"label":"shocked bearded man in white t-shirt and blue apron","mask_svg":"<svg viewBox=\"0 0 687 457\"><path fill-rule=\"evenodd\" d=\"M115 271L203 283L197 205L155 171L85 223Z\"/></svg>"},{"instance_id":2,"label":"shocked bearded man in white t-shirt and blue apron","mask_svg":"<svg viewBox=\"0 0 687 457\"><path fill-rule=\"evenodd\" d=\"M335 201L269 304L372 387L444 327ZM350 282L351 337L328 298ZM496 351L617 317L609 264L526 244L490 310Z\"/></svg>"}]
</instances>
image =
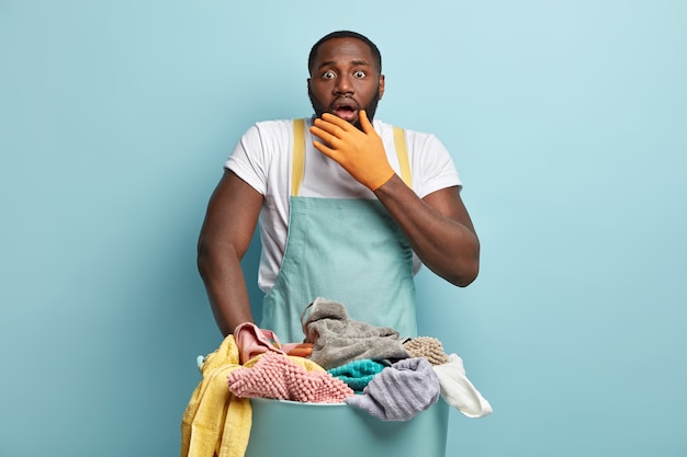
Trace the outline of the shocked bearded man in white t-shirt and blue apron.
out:
<instances>
[{"instance_id":1,"label":"shocked bearded man in white t-shirt and blue apron","mask_svg":"<svg viewBox=\"0 0 687 457\"><path fill-rule=\"evenodd\" d=\"M303 339L316 297L349 318L415 336L420 262L464 287L480 243L439 140L373 121L384 94L376 46L354 32L320 38L308 58L315 116L254 125L225 164L199 240L199 271L224 335L252 322L240 266L260 220L259 325Z\"/></svg>"}]
</instances>

